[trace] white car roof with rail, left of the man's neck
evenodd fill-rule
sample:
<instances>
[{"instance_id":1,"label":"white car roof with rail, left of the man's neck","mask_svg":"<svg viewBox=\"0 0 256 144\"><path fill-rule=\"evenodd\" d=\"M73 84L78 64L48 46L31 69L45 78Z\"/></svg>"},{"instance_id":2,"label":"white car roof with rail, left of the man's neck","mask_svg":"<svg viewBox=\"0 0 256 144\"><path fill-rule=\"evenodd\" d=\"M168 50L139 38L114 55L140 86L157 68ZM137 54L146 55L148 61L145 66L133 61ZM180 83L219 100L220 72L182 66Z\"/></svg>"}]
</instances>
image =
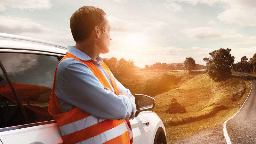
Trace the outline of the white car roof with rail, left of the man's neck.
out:
<instances>
[{"instance_id":1,"label":"white car roof with rail, left of the man's neck","mask_svg":"<svg viewBox=\"0 0 256 144\"><path fill-rule=\"evenodd\" d=\"M17 36L11 34L0 33L0 50L1 49L16 49L16 50L29 50L52 52L58 54L65 54L68 47L62 44L40 40L36 38ZM5 39L6 38L6 39ZM17 41L18 40L18 41Z\"/></svg>"}]
</instances>

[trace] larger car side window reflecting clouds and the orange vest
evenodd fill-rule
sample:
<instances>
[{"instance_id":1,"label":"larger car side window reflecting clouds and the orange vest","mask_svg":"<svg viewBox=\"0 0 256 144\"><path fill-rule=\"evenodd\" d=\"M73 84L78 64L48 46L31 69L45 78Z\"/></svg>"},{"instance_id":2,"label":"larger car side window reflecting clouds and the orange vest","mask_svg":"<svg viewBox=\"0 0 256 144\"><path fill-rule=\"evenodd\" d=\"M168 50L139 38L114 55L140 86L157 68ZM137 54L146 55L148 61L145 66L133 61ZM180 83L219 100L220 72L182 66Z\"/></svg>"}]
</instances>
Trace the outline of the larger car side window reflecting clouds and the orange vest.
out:
<instances>
[{"instance_id":1,"label":"larger car side window reflecting clouds and the orange vest","mask_svg":"<svg viewBox=\"0 0 256 144\"><path fill-rule=\"evenodd\" d=\"M30 123L54 120L48 112L57 56L0 53Z\"/></svg>"}]
</instances>

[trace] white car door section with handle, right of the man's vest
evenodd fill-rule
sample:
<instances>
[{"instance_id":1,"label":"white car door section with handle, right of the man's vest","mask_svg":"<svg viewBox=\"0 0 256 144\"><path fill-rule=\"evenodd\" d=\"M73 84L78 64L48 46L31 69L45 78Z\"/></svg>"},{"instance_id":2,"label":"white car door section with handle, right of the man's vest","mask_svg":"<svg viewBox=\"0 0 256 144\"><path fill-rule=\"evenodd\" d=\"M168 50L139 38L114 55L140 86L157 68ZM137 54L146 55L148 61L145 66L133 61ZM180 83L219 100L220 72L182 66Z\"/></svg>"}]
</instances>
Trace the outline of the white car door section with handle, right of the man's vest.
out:
<instances>
[{"instance_id":1,"label":"white car door section with handle, right of the man's vest","mask_svg":"<svg viewBox=\"0 0 256 144\"><path fill-rule=\"evenodd\" d=\"M139 114L133 120L130 120L133 135L133 144L148 144L149 133L143 117Z\"/></svg>"}]
</instances>

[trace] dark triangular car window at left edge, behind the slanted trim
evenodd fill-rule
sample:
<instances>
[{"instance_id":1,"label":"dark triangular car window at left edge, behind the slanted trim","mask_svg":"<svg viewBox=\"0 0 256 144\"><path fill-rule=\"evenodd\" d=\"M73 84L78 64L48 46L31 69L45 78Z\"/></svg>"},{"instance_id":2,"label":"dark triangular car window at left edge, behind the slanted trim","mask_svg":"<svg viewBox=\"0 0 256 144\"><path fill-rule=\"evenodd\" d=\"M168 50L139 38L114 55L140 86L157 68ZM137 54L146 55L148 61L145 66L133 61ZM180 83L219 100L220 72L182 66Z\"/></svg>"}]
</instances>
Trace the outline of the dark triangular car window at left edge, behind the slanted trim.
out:
<instances>
[{"instance_id":1,"label":"dark triangular car window at left edge, behind the slanted trim","mask_svg":"<svg viewBox=\"0 0 256 144\"><path fill-rule=\"evenodd\" d=\"M18 102L0 68L0 128L27 124Z\"/></svg>"}]
</instances>

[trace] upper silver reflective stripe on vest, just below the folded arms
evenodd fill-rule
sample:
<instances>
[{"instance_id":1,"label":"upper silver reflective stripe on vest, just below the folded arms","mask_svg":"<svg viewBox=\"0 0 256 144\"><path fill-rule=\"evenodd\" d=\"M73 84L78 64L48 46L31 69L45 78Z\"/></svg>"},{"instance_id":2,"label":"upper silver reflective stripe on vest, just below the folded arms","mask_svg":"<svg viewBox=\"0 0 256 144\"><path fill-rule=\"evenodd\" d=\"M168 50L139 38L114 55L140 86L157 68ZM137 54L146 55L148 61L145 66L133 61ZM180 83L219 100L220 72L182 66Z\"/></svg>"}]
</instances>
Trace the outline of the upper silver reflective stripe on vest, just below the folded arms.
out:
<instances>
[{"instance_id":1,"label":"upper silver reflective stripe on vest, just below the folded arms","mask_svg":"<svg viewBox=\"0 0 256 144\"><path fill-rule=\"evenodd\" d=\"M61 136L64 136L64 135L67 135L67 134L70 134L70 133L73 133L73 132L83 130L83 129L85 129L87 127L90 127L94 124L98 124L98 123L100 123L104 120L105 119L96 118L94 116L87 116L87 117L85 117L85 118L83 118L79 121L60 126L59 127L60 128L60 133L61 133Z\"/></svg>"}]
</instances>

